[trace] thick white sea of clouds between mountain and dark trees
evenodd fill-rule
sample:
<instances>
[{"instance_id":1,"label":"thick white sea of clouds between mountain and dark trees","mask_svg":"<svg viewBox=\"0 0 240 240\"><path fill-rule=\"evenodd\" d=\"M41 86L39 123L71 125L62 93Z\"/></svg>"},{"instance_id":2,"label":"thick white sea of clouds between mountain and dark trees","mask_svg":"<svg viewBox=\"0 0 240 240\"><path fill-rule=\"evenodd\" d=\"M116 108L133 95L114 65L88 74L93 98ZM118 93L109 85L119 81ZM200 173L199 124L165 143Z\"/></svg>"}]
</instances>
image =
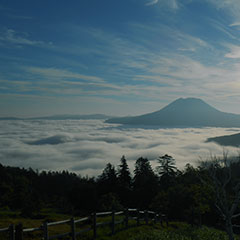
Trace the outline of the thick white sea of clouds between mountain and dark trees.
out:
<instances>
[{"instance_id":1,"label":"thick white sea of clouds between mountain and dark trees","mask_svg":"<svg viewBox=\"0 0 240 240\"><path fill-rule=\"evenodd\" d=\"M223 147L206 143L209 137L239 133L236 128L140 128L102 120L6 120L0 122L0 163L38 170L68 170L97 176L108 162L116 167L125 155L131 170L137 158L151 160L169 154L182 169L197 166ZM229 155L238 149L227 147Z\"/></svg>"}]
</instances>

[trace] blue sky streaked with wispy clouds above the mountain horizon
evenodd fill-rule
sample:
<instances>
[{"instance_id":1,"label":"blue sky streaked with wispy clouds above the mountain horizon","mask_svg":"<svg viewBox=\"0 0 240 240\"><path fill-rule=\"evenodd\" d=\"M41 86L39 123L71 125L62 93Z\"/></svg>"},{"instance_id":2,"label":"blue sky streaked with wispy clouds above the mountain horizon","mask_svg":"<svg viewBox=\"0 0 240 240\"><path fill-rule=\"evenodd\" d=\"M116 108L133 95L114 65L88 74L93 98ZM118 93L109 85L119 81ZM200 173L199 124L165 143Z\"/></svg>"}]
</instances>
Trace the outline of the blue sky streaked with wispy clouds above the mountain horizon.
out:
<instances>
[{"instance_id":1,"label":"blue sky streaked with wispy clouds above the mountain horizon","mask_svg":"<svg viewBox=\"0 0 240 240\"><path fill-rule=\"evenodd\" d=\"M1 0L0 116L240 113L239 0Z\"/></svg>"}]
</instances>

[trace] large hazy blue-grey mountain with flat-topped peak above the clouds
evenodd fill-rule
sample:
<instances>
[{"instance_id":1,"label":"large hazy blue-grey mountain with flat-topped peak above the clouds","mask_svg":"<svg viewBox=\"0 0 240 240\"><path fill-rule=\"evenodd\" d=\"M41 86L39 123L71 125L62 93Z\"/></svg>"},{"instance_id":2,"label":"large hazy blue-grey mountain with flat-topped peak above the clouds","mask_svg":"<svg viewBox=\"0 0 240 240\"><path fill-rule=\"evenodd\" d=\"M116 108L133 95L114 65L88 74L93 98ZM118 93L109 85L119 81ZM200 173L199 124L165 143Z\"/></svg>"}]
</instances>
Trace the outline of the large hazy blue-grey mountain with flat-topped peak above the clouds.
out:
<instances>
[{"instance_id":1,"label":"large hazy blue-grey mountain with flat-topped peak above the clouds","mask_svg":"<svg viewBox=\"0 0 240 240\"><path fill-rule=\"evenodd\" d=\"M107 123L162 127L240 127L240 115L221 112L198 98L179 98L159 111Z\"/></svg>"}]
</instances>

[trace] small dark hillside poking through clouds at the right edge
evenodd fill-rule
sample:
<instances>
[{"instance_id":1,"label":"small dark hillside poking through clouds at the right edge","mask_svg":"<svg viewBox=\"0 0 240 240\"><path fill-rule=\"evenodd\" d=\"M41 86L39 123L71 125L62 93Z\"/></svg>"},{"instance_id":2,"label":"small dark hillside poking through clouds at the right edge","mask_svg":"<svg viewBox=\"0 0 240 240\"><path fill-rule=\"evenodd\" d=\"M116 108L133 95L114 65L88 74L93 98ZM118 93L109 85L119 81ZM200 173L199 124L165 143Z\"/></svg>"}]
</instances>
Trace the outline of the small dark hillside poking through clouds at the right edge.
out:
<instances>
[{"instance_id":1,"label":"small dark hillside poking through clouds at the right edge","mask_svg":"<svg viewBox=\"0 0 240 240\"><path fill-rule=\"evenodd\" d=\"M215 142L221 146L232 146L239 147L240 146L240 133L233 135L225 135L214 138L208 138L206 142Z\"/></svg>"}]
</instances>

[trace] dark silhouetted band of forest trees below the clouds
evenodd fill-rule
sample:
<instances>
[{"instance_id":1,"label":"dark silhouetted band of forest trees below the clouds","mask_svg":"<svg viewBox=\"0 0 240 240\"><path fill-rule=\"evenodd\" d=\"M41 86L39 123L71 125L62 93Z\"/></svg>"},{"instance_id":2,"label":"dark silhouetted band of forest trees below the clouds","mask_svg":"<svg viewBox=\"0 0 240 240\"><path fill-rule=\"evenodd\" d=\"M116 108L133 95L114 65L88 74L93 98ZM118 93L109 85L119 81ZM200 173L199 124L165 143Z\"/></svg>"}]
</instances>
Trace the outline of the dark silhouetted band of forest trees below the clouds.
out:
<instances>
[{"instance_id":1,"label":"dark silhouetted band of forest trees below the clouds","mask_svg":"<svg viewBox=\"0 0 240 240\"><path fill-rule=\"evenodd\" d=\"M108 163L98 177L0 164L0 208L34 218L41 217L43 208L83 216L133 207L158 211L172 220L224 226L228 209L235 204L234 227L237 220L232 217L240 200L240 161L228 159L227 164L226 158L222 160L215 158L198 167L187 164L179 170L175 159L166 154L158 158L154 170L147 158L140 157L131 174L122 156L117 168Z\"/></svg>"}]
</instances>

